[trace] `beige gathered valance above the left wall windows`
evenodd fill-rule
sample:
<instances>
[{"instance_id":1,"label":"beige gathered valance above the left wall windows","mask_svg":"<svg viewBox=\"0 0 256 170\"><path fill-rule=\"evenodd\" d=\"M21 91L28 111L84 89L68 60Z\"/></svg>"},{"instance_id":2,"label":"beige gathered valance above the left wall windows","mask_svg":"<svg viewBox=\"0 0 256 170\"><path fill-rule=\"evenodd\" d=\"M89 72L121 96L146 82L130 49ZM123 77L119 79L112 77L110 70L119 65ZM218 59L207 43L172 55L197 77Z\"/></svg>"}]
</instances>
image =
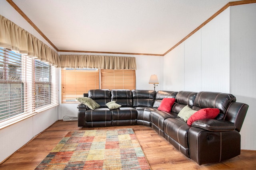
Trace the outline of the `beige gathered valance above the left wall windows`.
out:
<instances>
[{"instance_id":1,"label":"beige gathered valance above the left wall windows","mask_svg":"<svg viewBox=\"0 0 256 170\"><path fill-rule=\"evenodd\" d=\"M16 53L33 57L60 68L58 53L22 29L12 21L0 15L0 47Z\"/></svg>"}]
</instances>

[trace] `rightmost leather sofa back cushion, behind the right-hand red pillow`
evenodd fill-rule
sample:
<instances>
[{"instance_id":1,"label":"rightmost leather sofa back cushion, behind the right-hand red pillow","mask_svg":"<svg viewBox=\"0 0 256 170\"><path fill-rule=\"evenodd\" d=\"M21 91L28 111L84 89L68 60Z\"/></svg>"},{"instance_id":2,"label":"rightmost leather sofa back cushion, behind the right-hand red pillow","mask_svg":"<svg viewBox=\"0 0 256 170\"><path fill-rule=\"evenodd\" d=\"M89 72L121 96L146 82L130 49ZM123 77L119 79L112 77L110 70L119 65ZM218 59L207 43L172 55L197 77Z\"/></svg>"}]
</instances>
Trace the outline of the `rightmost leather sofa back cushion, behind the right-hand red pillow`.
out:
<instances>
[{"instance_id":1,"label":"rightmost leather sofa back cushion, behind the right-hand red pillow","mask_svg":"<svg viewBox=\"0 0 256 170\"><path fill-rule=\"evenodd\" d=\"M232 94L220 92L199 92L196 95L193 109L217 108L220 109L220 113L226 114L231 102L236 102L236 97Z\"/></svg>"}]
</instances>

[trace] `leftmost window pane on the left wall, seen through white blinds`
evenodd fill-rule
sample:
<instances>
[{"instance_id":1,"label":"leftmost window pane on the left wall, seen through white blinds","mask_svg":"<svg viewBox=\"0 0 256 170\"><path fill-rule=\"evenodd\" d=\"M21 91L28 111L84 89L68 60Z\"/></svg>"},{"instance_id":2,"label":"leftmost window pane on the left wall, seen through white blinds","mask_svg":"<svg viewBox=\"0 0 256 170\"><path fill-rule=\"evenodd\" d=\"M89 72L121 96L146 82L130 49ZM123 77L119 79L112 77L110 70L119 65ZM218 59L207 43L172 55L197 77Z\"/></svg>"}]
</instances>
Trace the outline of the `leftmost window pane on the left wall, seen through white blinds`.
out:
<instances>
[{"instance_id":1,"label":"leftmost window pane on the left wall, seen through white blinds","mask_svg":"<svg viewBox=\"0 0 256 170\"><path fill-rule=\"evenodd\" d=\"M21 55L0 49L0 121L24 111Z\"/></svg>"}]
</instances>

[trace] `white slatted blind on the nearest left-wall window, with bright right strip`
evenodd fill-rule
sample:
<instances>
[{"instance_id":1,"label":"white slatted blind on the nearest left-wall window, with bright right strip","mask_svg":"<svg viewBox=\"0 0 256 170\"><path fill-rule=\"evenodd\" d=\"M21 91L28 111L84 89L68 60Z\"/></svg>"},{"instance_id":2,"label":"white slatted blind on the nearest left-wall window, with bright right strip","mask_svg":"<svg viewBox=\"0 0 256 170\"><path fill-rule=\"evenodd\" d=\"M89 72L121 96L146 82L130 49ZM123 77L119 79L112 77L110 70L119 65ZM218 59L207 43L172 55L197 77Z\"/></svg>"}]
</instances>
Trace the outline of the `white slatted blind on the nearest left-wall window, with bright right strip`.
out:
<instances>
[{"instance_id":1,"label":"white slatted blind on the nearest left-wall window, with bright right strip","mask_svg":"<svg viewBox=\"0 0 256 170\"><path fill-rule=\"evenodd\" d=\"M32 59L0 49L0 121L33 112Z\"/></svg>"}]
</instances>

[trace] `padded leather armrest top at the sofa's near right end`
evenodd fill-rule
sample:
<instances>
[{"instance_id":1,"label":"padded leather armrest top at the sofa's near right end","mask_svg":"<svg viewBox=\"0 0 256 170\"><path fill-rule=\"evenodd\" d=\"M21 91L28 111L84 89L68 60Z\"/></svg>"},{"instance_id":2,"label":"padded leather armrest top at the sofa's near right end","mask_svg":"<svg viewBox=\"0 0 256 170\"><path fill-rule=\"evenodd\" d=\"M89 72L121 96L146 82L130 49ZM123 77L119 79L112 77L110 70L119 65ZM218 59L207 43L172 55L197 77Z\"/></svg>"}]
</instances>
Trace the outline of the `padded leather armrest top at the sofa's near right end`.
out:
<instances>
[{"instance_id":1,"label":"padded leather armrest top at the sofa's near right end","mask_svg":"<svg viewBox=\"0 0 256 170\"><path fill-rule=\"evenodd\" d=\"M234 131L236 126L230 121L201 119L192 123L192 127L200 127L208 131Z\"/></svg>"}]
</instances>

